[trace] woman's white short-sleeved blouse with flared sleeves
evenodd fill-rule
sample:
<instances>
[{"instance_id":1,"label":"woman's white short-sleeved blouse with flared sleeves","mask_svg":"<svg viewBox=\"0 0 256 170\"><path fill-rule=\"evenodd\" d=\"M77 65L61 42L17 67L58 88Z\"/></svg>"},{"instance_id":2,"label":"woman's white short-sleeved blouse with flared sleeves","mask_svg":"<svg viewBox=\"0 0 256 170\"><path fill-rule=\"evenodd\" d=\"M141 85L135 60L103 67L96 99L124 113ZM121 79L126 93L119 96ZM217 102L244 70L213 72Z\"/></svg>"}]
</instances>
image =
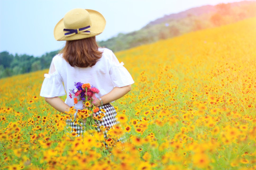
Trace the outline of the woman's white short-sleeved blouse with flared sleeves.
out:
<instances>
[{"instance_id":1,"label":"woman's white short-sleeved blouse with flared sleeves","mask_svg":"<svg viewBox=\"0 0 256 170\"><path fill-rule=\"evenodd\" d=\"M92 67L79 68L72 67L62 56L57 54L51 63L49 74L45 74L45 79L41 88L40 96L57 97L66 95L65 103L82 109L82 102L74 105L73 97L69 97L70 90L76 89L74 83L89 83L100 90L96 97L101 97L109 93L114 87L123 87L134 83L128 70L123 67L123 62L107 48L99 48L103 51L101 59Z\"/></svg>"}]
</instances>

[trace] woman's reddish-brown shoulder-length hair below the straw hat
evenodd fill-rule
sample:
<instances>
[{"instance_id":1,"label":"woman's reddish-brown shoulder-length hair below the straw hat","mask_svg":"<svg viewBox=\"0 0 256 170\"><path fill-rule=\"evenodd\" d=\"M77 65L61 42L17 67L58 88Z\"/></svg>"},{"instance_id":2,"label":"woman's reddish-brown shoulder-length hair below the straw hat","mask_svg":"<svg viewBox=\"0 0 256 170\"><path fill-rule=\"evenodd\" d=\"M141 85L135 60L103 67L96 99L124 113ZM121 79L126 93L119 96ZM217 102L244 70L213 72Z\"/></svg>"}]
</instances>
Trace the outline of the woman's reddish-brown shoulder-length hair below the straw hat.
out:
<instances>
[{"instance_id":1,"label":"woman's reddish-brown shoulder-length hair below the straw hat","mask_svg":"<svg viewBox=\"0 0 256 170\"><path fill-rule=\"evenodd\" d=\"M72 66L81 68L92 67L101 58L102 52L95 36L80 40L66 41L65 47L60 51L64 59Z\"/></svg>"}]
</instances>

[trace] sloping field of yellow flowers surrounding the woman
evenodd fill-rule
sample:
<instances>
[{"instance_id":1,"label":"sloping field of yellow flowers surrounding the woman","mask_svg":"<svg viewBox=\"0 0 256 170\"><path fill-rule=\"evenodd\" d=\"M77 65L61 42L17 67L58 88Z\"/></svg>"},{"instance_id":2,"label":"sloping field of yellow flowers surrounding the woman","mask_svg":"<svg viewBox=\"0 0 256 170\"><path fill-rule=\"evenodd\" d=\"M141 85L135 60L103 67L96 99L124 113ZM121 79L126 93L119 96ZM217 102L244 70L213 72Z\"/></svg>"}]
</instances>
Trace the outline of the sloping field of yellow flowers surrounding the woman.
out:
<instances>
[{"instance_id":1,"label":"sloping field of yellow flowers surrounding the woman","mask_svg":"<svg viewBox=\"0 0 256 170\"><path fill-rule=\"evenodd\" d=\"M0 79L0 169L256 169L256 18L116 55L136 83L106 140L66 133L39 96L48 70Z\"/></svg>"}]
</instances>

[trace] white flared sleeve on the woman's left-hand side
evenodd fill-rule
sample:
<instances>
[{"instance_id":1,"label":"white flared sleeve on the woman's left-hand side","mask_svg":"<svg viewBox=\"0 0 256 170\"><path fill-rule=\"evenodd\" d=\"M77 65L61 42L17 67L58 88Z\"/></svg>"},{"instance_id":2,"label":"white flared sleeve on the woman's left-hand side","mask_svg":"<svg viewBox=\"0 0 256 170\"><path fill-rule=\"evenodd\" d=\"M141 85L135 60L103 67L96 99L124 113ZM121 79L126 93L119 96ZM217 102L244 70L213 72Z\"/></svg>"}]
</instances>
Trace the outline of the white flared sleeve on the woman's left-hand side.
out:
<instances>
[{"instance_id":1,"label":"white flared sleeve on the woman's left-hand side","mask_svg":"<svg viewBox=\"0 0 256 170\"><path fill-rule=\"evenodd\" d=\"M45 74L45 79L41 88L40 96L42 97L57 97L65 95L63 80L55 69L52 61L49 74Z\"/></svg>"}]
</instances>

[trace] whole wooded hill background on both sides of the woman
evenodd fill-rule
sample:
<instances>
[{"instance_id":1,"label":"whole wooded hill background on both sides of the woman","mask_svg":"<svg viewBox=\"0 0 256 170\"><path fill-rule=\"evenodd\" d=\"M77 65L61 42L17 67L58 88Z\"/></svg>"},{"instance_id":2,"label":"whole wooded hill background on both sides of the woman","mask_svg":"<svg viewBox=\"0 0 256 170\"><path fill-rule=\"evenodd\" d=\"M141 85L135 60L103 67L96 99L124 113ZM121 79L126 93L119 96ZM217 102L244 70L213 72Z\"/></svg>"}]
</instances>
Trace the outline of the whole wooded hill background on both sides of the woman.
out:
<instances>
[{"instance_id":1,"label":"whole wooded hill background on both sides of the woman","mask_svg":"<svg viewBox=\"0 0 256 170\"><path fill-rule=\"evenodd\" d=\"M148 23L138 31L119 34L107 41L98 42L100 46L112 51L122 51L143 44L149 44L177 37L193 31L224 26L256 16L256 1L241 1L216 6L191 8L177 14L170 14ZM49 68L51 60L58 51L52 51L37 58L30 55L15 56L8 51L0 52L0 78L29 73Z\"/></svg>"}]
</instances>

